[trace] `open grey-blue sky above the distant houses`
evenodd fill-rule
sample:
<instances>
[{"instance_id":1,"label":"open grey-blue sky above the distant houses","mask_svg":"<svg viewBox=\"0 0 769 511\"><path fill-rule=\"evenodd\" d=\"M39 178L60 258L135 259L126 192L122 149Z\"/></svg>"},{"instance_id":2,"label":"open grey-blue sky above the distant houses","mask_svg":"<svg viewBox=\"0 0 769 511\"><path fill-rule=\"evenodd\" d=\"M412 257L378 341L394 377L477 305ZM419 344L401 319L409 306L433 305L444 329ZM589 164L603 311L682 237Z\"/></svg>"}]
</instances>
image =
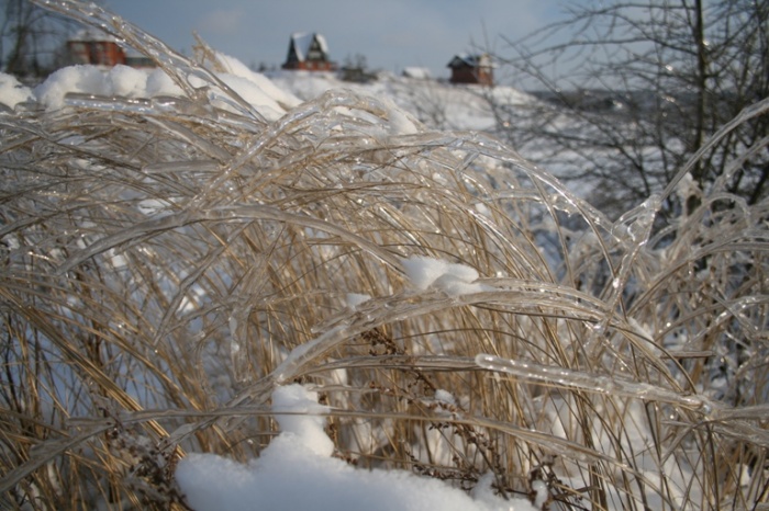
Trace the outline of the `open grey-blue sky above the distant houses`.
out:
<instances>
[{"instance_id":1,"label":"open grey-blue sky above the distant houses","mask_svg":"<svg viewBox=\"0 0 769 511\"><path fill-rule=\"evenodd\" d=\"M364 55L368 66L408 66L449 75L455 54L517 38L562 15L564 0L105 0L105 7L177 50L192 31L244 64L279 66L293 32L320 32L334 60ZM473 47L476 45L477 47Z\"/></svg>"}]
</instances>

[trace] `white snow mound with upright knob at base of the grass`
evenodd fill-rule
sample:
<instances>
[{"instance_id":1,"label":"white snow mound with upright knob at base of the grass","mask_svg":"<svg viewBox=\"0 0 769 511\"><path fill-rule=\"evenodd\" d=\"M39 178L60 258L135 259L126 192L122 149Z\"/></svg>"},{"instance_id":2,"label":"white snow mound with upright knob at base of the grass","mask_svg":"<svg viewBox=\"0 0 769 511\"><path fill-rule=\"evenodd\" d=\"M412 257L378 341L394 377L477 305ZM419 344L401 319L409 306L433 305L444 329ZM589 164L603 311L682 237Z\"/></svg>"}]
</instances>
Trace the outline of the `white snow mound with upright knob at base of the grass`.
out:
<instances>
[{"instance_id":1,"label":"white snow mound with upright knob at base of the grass","mask_svg":"<svg viewBox=\"0 0 769 511\"><path fill-rule=\"evenodd\" d=\"M197 511L313 510L347 511L532 511L527 500L502 500L488 486L473 496L437 479L404 470L363 470L330 457L325 419L309 413L325 409L317 394L300 385L272 394L281 433L248 464L212 454L190 454L179 462L176 478Z\"/></svg>"}]
</instances>

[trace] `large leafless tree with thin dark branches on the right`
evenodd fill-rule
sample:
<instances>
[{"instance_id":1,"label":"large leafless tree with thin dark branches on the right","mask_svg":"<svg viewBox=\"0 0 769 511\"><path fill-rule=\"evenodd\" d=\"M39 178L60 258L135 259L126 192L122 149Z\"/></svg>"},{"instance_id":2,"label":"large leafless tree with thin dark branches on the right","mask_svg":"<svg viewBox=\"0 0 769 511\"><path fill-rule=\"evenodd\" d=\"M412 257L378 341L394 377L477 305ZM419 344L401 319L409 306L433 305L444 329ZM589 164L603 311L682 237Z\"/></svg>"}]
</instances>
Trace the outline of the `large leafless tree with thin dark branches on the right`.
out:
<instances>
[{"instance_id":1,"label":"large leafless tree with thin dark branches on the right","mask_svg":"<svg viewBox=\"0 0 769 511\"><path fill-rule=\"evenodd\" d=\"M617 212L665 188L712 134L769 95L769 0L573 7L566 21L506 43L512 55L499 60L548 101L527 112L497 105L501 133L524 152L533 140L553 141L555 154L538 156ZM707 148L693 182L721 180L759 201L768 127L759 116ZM672 196L666 209L695 205L687 202Z\"/></svg>"}]
</instances>

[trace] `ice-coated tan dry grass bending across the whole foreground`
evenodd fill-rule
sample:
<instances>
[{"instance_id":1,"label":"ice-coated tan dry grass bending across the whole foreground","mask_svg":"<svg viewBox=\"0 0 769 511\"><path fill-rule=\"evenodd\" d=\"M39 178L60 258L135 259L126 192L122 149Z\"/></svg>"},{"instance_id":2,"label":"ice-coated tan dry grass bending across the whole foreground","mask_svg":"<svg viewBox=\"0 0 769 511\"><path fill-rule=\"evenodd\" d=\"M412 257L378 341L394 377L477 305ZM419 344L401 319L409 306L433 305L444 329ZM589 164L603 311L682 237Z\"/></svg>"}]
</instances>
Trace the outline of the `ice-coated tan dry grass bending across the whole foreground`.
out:
<instances>
[{"instance_id":1,"label":"ice-coated tan dry grass bending across the whole foreground","mask_svg":"<svg viewBox=\"0 0 769 511\"><path fill-rule=\"evenodd\" d=\"M767 501L766 201L684 168L610 222L491 137L49 4L174 90L0 80L4 506ZM113 88L52 107L64 77ZM699 207L657 231L673 193Z\"/></svg>"}]
</instances>

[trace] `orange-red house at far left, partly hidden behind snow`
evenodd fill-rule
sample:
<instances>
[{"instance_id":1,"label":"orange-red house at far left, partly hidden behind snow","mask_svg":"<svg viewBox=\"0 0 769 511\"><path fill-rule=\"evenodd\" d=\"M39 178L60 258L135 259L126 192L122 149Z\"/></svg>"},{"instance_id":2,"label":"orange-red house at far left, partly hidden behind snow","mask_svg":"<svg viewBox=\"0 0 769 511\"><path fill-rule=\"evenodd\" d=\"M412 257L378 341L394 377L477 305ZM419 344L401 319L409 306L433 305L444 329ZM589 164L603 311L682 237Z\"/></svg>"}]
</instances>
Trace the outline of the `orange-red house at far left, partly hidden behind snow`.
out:
<instances>
[{"instance_id":1,"label":"orange-red house at far left, partly hidden behind snow","mask_svg":"<svg viewBox=\"0 0 769 511\"><path fill-rule=\"evenodd\" d=\"M134 49L125 49L118 39L93 29L85 29L67 41L67 64L94 66L154 67L155 63Z\"/></svg>"}]
</instances>

